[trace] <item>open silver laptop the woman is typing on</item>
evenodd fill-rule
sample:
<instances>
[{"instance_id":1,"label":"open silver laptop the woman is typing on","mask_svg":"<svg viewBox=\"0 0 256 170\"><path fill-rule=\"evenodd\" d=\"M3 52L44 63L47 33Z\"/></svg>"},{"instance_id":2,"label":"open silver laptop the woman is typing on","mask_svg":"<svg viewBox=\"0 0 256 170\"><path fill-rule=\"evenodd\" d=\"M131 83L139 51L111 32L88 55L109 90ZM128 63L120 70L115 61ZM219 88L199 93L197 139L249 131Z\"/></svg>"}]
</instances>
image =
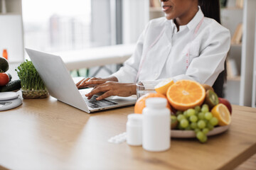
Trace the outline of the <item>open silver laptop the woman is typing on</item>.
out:
<instances>
[{"instance_id":1,"label":"open silver laptop the woman is typing on","mask_svg":"<svg viewBox=\"0 0 256 170\"><path fill-rule=\"evenodd\" d=\"M58 101L62 101L86 113L130 106L136 102L137 98L132 96L111 96L100 101L95 99L97 96L92 96L88 100L85 94L89 93L92 88L78 90L61 57L27 48L26 52L46 85L50 96L57 98Z\"/></svg>"}]
</instances>

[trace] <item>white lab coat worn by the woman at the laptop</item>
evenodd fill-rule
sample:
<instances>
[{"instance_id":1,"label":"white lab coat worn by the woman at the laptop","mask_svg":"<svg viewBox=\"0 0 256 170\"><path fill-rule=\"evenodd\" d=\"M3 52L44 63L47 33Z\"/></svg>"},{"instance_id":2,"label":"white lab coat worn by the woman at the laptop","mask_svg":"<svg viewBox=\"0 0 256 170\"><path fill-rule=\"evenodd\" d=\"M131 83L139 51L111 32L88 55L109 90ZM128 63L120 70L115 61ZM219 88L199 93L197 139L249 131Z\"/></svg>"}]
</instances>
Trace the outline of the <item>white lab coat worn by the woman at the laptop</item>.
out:
<instances>
[{"instance_id":1,"label":"white lab coat worn by the woman at the laptop","mask_svg":"<svg viewBox=\"0 0 256 170\"><path fill-rule=\"evenodd\" d=\"M193 37L195 30L198 32ZM112 76L122 83L173 78L212 86L224 70L229 49L229 30L204 17L199 8L196 16L186 26L180 26L179 31L174 21L165 17L149 21L132 57Z\"/></svg>"}]
</instances>

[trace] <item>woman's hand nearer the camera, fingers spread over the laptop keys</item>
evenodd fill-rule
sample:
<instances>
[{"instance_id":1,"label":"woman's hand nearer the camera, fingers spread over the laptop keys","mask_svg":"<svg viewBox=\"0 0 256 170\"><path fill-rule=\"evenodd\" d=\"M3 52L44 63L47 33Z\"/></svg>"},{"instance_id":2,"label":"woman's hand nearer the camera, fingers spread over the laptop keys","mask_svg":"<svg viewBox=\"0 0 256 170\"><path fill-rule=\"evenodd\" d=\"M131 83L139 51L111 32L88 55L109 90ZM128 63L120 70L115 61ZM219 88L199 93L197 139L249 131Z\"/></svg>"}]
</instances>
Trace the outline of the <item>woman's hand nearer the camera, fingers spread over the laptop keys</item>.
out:
<instances>
[{"instance_id":1,"label":"woman's hand nearer the camera, fingers spread over the laptop keys","mask_svg":"<svg viewBox=\"0 0 256 170\"><path fill-rule=\"evenodd\" d=\"M97 100L102 100L109 96L122 96L127 97L133 94L136 94L136 85L135 84L121 84L116 81L105 81L105 80L90 80L86 82L87 86L90 84L98 84L92 89L89 94L86 94L88 99L92 98L94 94L104 92L102 96L97 97Z\"/></svg>"}]
</instances>

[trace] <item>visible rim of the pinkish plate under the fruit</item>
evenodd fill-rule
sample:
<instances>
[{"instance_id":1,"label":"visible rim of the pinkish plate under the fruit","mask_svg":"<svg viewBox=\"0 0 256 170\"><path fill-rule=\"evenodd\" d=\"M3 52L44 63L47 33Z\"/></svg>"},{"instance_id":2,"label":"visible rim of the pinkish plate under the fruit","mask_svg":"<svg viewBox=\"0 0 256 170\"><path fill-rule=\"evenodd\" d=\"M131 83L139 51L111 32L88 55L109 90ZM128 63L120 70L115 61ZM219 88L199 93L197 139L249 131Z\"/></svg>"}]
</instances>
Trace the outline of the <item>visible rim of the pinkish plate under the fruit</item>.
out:
<instances>
[{"instance_id":1,"label":"visible rim of the pinkish plate under the fruit","mask_svg":"<svg viewBox=\"0 0 256 170\"><path fill-rule=\"evenodd\" d=\"M207 136L218 135L222 132L225 132L226 130L228 130L229 126L230 125L225 125L214 128L213 130L210 130L210 132L208 132ZM196 133L193 130L171 130L171 137L194 138L196 137Z\"/></svg>"}]
</instances>

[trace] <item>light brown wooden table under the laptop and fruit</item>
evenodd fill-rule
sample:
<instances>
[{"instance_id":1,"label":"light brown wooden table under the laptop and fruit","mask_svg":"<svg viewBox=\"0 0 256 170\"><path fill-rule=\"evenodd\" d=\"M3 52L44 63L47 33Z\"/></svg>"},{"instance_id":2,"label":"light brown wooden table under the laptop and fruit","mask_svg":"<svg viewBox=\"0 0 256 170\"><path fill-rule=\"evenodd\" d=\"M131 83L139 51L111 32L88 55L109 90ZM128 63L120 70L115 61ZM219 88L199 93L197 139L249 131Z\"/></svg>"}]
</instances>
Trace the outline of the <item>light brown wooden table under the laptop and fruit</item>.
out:
<instances>
[{"instance_id":1,"label":"light brown wooden table under the laptop and fruit","mask_svg":"<svg viewBox=\"0 0 256 170\"><path fill-rule=\"evenodd\" d=\"M171 140L167 152L107 140L125 131L133 107L87 114L55 98L0 112L0 169L233 169L256 153L256 108L233 106L230 129Z\"/></svg>"}]
</instances>

